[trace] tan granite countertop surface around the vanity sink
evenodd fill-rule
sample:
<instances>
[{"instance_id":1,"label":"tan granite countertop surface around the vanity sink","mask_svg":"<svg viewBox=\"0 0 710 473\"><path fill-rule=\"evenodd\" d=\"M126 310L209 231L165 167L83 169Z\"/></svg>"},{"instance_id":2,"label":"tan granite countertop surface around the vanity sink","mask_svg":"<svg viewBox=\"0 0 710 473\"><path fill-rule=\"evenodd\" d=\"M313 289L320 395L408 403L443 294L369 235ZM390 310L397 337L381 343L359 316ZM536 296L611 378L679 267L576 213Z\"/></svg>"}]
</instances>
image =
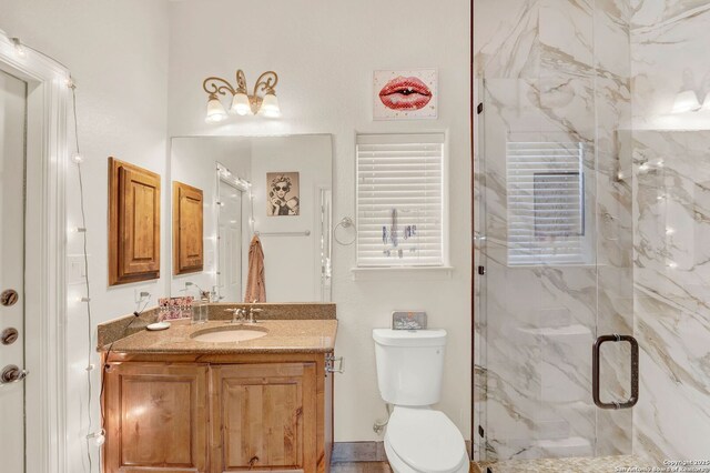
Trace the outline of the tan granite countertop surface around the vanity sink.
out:
<instances>
[{"instance_id":1,"label":"tan granite countertop surface around the vanity sink","mask_svg":"<svg viewBox=\"0 0 710 473\"><path fill-rule=\"evenodd\" d=\"M220 328L267 331L265 336L240 342L199 342L195 332ZM113 343L114 353L324 353L335 348L337 320L265 320L232 324L224 320L192 324L190 320L171 321L168 330L141 330ZM100 346L108 351L109 345Z\"/></svg>"}]
</instances>

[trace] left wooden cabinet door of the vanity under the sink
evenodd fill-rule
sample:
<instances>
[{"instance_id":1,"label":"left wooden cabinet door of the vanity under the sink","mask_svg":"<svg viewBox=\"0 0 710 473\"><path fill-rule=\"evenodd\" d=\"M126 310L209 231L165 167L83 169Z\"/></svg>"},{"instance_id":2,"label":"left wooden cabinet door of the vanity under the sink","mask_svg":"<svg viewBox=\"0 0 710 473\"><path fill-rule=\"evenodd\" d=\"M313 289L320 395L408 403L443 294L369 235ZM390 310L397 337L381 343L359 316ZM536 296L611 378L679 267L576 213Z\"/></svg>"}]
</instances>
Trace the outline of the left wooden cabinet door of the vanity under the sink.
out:
<instances>
[{"instance_id":1,"label":"left wooden cabinet door of the vanity under the sink","mask_svg":"<svg viewBox=\"0 0 710 473\"><path fill-rule=\"evenodd\" d=\"M105 473L207 471L207 366L111 365Z\"/></svg>"}]
</instances>

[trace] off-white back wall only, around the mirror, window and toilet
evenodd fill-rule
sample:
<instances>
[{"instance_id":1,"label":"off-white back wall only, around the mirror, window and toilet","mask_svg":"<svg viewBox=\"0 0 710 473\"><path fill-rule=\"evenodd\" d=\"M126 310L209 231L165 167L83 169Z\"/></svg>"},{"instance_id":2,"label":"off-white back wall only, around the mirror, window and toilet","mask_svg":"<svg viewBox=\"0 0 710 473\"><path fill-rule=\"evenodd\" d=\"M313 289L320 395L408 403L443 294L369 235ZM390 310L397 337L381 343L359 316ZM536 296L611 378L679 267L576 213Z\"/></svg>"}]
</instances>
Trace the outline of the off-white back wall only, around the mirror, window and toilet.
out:
<instances>
[{"instance_id":1,"label":"off-white back wall only, around the mirror, window and toilet","mask_svg":"<svg viewBox=\"0 0 710 473\"><path fill-rule=\"evenodd\" d=\"M376 440L384 416L372 329L395 309L422 309L449 331L439 407L469 436L470 422L470 141L468 132L469 2L433 0L263 2L178 1L170 8L169 134L332 133L334 215L355 212L355 134L444 130L448 137L452 279L383 276L353 281L355 248L335 245L333 301L341 322L336 378L336 441ZM436 68L439 119L374 122L372 74L377 69ZM206 124L207 76L250 85L278 73L281 120L232 119ZM253 87L253 85L252 85Z\"/></svg>"}]
</instances>

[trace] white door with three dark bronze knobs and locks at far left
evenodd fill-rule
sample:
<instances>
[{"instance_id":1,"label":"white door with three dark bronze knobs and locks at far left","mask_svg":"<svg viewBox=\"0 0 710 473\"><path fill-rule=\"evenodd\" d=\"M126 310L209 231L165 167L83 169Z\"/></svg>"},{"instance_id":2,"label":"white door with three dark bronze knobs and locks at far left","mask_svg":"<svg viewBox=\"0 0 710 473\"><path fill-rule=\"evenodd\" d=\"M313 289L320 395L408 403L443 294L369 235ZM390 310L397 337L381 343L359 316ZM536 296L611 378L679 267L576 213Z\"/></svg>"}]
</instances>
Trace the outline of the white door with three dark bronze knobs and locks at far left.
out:
<instances>
[{"instance_id":1,"label":"white door with three dark bronze knobs and locks at far left","mask_svg":"<svg viewBox=\"0 0 710 473\"><path fill-rule=\"evenodd\" d=\"M0 470L24 472L27 83L0 71Z\"/></svg>"}]
</instances>

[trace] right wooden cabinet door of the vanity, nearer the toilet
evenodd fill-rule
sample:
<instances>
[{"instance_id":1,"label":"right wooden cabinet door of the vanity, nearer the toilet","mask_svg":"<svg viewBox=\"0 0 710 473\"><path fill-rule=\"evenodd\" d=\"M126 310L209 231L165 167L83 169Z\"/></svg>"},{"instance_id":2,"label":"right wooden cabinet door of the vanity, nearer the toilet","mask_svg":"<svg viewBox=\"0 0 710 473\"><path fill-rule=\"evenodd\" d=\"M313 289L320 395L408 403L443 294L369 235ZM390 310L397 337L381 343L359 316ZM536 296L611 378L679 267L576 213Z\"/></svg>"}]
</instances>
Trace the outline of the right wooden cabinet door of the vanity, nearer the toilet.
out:
<instances>
[{"instance_id":1,"label":"right wooden cabinet door of the vanity, nearer the toilet","mask_svg":"<svg viewBox=\"0 0 710 473\"><path fill-rule=\"evenodd\" d=\"M213 472L316 471L315 363L212 366Z\"/></svg>"}]
</instances>

